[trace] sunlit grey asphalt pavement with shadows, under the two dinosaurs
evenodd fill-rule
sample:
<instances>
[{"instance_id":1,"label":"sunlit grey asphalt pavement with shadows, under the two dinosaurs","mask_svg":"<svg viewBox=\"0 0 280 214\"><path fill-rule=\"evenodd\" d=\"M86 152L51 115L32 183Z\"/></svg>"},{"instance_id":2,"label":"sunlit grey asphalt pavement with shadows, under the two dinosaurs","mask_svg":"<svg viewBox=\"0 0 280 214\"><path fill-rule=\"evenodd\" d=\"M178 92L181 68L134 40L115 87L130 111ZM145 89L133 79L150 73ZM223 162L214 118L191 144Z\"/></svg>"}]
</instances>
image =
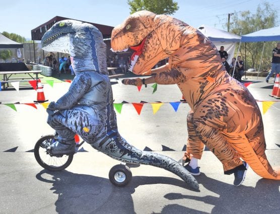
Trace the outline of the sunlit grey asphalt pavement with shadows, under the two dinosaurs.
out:
<instances>
[{"instance_id":1,"label":"sunlit grey asphalt pavement with shadows, under the two dinosaurs","mask_svg":"<svg viewBox=\"0 0 280 214\"><path fill-rule=\"evenodd\" d=\"M258 102L275 101L262 115L267 144L266 155L272 166L280 166L280 102L268 96L272 78L247 77L248 89ZM187 140L187 103L177 112L170 102L180 101L176 85L152 85L140 91L135 86L121 85L112 79L114 103L121 103L117 114L120 134L142 150L155 151L179 160ZM57 100L69 83L44 85L49 101ZM74 156L63 171L50 172L36 162L36 141L53 130L46 124L42 105L23 104L36 100L33 89L0 91L0 213L279 213L280 181L263 179L250 168L241 186L233 186L233 175L224 175L222 164L209 151L199 160L201 174L196 176L199 191L189 188L176 175L152 166L131 168L132 180L125 187L111 184L108 173L118 161L83 145L84 152ZM132 103L145 101L138 115ZM163 105L156 114L150 102ZM14 111L8 103L15 104Z\"/></svg>"}]
</instances>

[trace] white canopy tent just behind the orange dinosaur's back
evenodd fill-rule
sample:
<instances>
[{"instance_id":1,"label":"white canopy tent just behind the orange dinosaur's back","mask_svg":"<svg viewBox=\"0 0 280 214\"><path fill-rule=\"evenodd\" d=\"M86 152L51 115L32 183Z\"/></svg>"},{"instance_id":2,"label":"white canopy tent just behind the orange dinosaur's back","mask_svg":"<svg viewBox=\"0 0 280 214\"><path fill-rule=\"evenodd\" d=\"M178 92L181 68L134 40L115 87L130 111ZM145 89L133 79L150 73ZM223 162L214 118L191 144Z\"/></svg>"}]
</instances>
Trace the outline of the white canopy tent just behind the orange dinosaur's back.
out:
<instances>
[{"instance_id":1,"label":"white canopy tent just behind the orange dinosaur's back","mask_svg":"<svg viewBox=\"0 0 280 214\"><path fill-rule=\"evenodd\" d=\"M241 37L227 31L219 30L209 26L201 25L198 30L214 43L218 50L221 46L225 47L229 58L228 62L231 63L231 59L234 57L235 45L240 42Z\"/></svg>"}]
</instances>

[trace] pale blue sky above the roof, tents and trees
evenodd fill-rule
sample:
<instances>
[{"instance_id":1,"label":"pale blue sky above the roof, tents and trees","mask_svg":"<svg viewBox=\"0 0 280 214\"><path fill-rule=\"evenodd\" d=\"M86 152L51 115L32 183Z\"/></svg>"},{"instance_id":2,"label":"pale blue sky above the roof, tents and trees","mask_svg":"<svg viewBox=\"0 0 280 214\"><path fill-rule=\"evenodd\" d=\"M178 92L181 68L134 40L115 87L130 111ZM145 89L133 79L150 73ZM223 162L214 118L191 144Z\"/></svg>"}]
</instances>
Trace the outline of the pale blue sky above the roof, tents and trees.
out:
<instances>
[{"instance_id":1,"label":"pale blue sky above the roof, tents and trees","mask_svg":"<svg viewBox=\"0 0 280 214\"><path fill-rule=\"evenodd\" d=\"M174 0L179 10L171 15L192 27L207 25L226 30L229 13L255 13L263 0ZM280 11L280 0L266 0ZM16 33L31 39L31 30L55 16L116 26L130 15L127 0L0 0L0 32ZM280 14L277 14L280 24Z\"/></svg>"}]
</instances>

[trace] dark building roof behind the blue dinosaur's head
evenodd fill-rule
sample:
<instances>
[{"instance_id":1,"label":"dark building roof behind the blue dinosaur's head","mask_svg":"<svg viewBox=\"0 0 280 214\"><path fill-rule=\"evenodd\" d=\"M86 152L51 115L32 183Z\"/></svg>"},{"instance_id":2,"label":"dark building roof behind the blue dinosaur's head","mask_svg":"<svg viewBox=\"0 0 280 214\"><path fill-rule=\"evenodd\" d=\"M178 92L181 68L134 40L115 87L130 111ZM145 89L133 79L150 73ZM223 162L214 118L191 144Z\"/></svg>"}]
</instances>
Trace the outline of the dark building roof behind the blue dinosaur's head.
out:
<instances>
[{"instance_id":1,"label":"dark building roof behind the blue dinosaur's head","mask_svg":"<svg viewBox=\"0 0 280 214\"><path fill-rule=\"evenodd\" d=\"M51 28L51 26L54 25L54 23L59 22L61 20L66 20L66 19L70 19L70 18L65 18L65 17L54 17L51 20L47 21L46 23L38 26L37 28L34 28L33 30L31 30L31 39L32 40L41 40L44 33ZM72 20L76 20L76 19L72 19ZM81 20L77 20L77 21L81 21ZM81 21L81 22L85 22L85 21ZM94 25L95 27L98 28L98 30L100 30L100 32L103 35L104 39L108 39L111 38L111 33L114 27L112 26L107 26L107 25L100 25L100 24L96 24L96 23L91 23L91 22L86 22L89 24Z\"/></svg>"}]
</instances>

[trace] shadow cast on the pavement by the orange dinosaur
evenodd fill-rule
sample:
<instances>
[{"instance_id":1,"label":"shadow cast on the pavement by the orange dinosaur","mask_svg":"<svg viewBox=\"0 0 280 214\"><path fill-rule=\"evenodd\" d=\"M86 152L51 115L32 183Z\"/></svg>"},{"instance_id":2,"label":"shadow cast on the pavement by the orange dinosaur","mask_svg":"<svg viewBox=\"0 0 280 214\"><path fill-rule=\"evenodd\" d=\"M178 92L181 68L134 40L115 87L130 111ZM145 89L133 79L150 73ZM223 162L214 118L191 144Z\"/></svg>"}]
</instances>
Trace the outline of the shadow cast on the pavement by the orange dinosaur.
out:
<instances>
[{"instance_id":1,"label":"shadow cast on the pavement by the orange dinosaur","mask_svg":"<svg viewBox=\"0 0 280 214\"><path fill-rule=\"evenodd\" d=\"M195 176L195 178L200 185L219 196L206 195L198 197L168 193L164 197L169 200L193 199L215 205L211 213L277 213L280 210L279 181L261 178L255 187L251 187L244 185L234 186L209 178L203 173ZM180 210L180 207L178 205L176 209Z\"/></svg>"}]
</instances>

